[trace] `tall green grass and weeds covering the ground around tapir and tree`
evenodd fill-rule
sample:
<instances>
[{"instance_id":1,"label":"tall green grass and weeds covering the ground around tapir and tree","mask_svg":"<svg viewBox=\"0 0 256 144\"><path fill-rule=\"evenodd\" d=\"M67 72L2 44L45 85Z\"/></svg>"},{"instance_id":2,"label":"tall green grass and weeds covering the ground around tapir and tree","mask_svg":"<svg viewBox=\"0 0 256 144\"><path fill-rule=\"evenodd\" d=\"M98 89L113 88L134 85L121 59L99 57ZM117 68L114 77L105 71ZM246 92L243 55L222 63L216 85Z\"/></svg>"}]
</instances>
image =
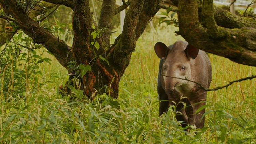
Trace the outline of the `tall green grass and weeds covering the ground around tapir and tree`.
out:
<instances>
[{"instance_id":1,"label":"tall green grass and weeds covering the ground around tapir and tree","mask_svg":"<svg viewBox=\"0 0 256 144\"><path fill-rule=\"evenodd\" d=\"M172 44L182 38L175 36L174 26L161 25L156 31L147 30L138 40L117 100L96 94L94 100L81 101L74 90L75 102L58 93L67 79L65 68L43 47L18 49L35 46L30 38L17 35L12 42L22 45L1 48L0 143L256 143L255 79L208 92L203 129L184 131L172 108L158 117L159 59L153 47L158 41ZM72 38L66 40L72 43ZM209 58L211 88L256 75L255 67L212 54Z\"/></svg>"}]
</instances>

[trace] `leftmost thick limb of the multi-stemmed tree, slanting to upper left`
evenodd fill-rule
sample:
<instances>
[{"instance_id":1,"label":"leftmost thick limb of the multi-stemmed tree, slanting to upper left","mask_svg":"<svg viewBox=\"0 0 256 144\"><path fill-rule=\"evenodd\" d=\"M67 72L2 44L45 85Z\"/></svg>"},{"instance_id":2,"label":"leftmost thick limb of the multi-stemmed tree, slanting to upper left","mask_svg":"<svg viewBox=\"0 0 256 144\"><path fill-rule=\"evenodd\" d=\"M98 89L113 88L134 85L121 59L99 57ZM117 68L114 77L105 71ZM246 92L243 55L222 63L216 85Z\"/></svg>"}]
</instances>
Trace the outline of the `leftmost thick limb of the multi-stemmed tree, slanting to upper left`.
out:
<instances>
[{"instance_id":1,"label":"leftmost thick limb of the multi-stemmed tree, slanting to upper left","mask_svg":"<svg viewBox=\"0 0 256 144\"><path fill-rule=\"evenodd\" d=\"M35 42L40 41L40 43L44 44L46 49L55 56L62 66L67 68L67 62L74 60L74 55L70 47L48 30L42 28L23 9L18 8L16 0L1 0L0 4L4 12L12 15L16 20L18 27L33 38Z\"/></svg>"}]
</instances>

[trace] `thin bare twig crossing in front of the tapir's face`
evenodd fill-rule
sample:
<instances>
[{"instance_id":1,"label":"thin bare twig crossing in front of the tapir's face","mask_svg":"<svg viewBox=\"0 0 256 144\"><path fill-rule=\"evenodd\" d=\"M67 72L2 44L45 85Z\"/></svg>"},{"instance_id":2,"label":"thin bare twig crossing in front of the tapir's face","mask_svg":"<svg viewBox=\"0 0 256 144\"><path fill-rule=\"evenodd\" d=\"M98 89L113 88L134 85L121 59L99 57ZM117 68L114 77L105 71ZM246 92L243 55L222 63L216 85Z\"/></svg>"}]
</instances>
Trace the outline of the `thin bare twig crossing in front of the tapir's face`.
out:
<instances>
[{"instance_id":1,"label":"thin bare twig crossing in front of the tapir's face","mask_svg":"<svg viewBox=\"0 0 256 144\"><path fill-rule=\"evenodd\" d=\"M166 75L162 75L162 76L170 77L170 76L166 76ZM245 78L241 78L241 79L238 79L238 80L234 80L234 81L229 82L229 84L227 84L227 85L218 86L218 87L215 87L215 88L213 88L213 89L207 89L207 88L203 87L200 83L195 82L195 81L191 81L191 80L189 80L189 79L187 79L187 78L185 78L185 79L184 79L184 78L178 78L178 77L171 77L171 78L177 78L177 79L182 79L182 80L187 80L187 81L193 82L193 83L199 85L199 88L200 88L200 89L203 89L203 90L205 90L205 91L216 91L216 90L219 90L219 89L227 88L228 86L232 85L232 84L235 83L235 82L241 82L241 81L245 81L245 80L249 80L249 79L251 80L251 79L253 79L253 78L256 78L256 75L255 75L255 76L252 75L251 77L245 77Z\"/></svg>"}]
</instances>

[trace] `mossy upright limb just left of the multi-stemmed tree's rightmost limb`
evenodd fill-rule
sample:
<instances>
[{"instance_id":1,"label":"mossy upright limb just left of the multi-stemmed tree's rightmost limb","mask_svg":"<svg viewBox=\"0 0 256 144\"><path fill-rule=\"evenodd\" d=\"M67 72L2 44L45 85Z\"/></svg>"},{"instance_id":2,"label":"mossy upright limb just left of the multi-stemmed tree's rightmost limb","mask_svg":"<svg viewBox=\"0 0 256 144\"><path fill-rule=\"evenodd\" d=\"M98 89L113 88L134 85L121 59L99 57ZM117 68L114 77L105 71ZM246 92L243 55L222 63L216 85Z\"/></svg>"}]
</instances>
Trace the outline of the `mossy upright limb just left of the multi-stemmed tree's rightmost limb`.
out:
<instances>
[{"instance_id":1,"label":"mossy upright limb just left of the multi-stemmed tree's rightmost limb","mask_svg":"<svg viewBox=\"0 0 256 144\"><path fill-rule=\"evenodd\" d=\"M119 79L123 74L125 68L129 65L127 58L130 59L131 53L136 46L136 26L139 22L139 16L143 9L144 0L136 0L130 2L130 9L126 13L124 20L123 32L119 35L119 41L112 49L111 54L108 54L107 60L113 65L118 65L116 68ZM122 55L122 57L120 57Z\"/></svg>"}]
</instances>

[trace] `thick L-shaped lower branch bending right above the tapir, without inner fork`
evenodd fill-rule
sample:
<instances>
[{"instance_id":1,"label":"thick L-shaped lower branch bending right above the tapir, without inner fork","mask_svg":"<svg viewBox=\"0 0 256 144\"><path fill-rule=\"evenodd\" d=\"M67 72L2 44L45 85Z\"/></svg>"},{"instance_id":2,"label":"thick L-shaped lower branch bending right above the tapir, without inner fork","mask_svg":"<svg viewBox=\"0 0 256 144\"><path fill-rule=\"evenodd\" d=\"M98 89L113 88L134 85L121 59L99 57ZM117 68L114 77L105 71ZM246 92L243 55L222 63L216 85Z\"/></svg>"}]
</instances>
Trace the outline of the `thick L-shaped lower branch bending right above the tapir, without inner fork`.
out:
<instances>
[{"instance_id":1,"label":"thick L-shaped lower branch bending right above the tapir, without inner fork","mask_svg":"<svg viewBox=\"0 0 256 144\"><path fill-rule=\"evenodd\" d=\"M213 7L208 6L205 9L213 10ZM179 32L177 33L188 43L205 52L229 58L234 62L256 66L255 28L228 29L217 27L217 32L215 32L216 29L209 30L212 29L212 26L204 28L199 22L196 0L180 0L178 18ZM212 32L209 34L209 31L213 31L213 34Z\"/></svg>"}]
</instances>

